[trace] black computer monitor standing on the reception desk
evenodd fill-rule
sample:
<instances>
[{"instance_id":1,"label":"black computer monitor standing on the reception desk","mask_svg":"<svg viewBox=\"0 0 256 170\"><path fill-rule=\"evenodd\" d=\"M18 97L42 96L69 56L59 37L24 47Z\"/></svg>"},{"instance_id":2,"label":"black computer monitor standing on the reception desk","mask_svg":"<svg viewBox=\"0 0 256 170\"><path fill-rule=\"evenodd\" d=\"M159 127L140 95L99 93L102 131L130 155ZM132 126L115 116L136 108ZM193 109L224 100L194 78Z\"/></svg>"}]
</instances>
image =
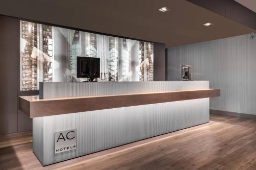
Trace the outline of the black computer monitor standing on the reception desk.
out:
<instances>
[{"instance_id":1,"label":"black computer monitor standing on the reception desk","mask_svg":"<svg viewBox=\"0 0 256 170\"><path fill-rule=\"evenodd\" d=\"M100 77L100 59L95 57L77 57L77 78Z\"/></svg>"}]
</instances>

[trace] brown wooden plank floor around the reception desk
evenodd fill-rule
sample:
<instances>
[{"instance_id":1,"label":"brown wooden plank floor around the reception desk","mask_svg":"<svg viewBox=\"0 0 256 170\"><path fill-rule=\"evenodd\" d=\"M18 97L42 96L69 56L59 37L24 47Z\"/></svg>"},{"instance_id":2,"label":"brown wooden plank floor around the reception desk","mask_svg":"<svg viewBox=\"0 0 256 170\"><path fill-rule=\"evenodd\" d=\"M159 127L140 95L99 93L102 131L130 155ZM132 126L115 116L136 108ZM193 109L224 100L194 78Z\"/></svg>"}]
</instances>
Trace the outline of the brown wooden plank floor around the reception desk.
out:
<instances>
[{"instance_id":1,"label":"brown wooden plank floor around the reception desk","mask_svg":"<svg viewBox=\"0 0 256 170\"><path fill-rule=\"evenodd\" d=\"M210 123L43 167L32 132L0 136L0 169L256 169L256 120Z\"/></svg>"}]
</instances>

